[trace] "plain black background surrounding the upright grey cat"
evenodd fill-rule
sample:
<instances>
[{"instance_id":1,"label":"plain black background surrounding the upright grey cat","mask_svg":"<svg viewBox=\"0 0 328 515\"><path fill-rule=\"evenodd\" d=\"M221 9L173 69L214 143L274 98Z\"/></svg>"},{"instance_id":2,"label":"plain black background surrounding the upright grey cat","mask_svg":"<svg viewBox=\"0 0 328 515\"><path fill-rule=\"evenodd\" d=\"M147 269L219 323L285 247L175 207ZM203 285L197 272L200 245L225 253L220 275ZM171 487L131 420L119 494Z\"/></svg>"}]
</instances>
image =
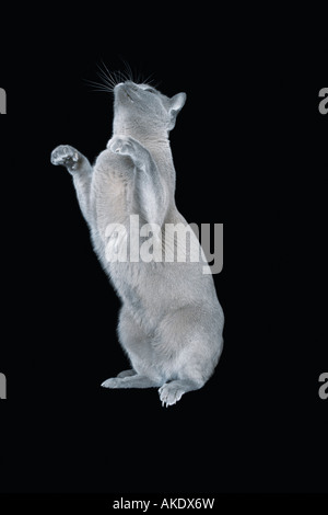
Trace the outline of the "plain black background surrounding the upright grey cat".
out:
<instances>
[{"instance_id":1,"label":"plain black background surrounding the upright grey cat","mask_svg":"<svg viewBox=\"0 0 328 515\"><path fill-rule=\"evenodd\" d=\"M0 491L327 492L328 44L282 22L247 30L243 13L126 9L30 7L1 35ZM113 98L85 80L122 59L187 93L171 137L177 206L224 222L224 353L169 409L156 390L99 387L127 367L119 302L71 178L49 162L60 144L90 160L105 147Z\"/></svg>"}]
</instances>

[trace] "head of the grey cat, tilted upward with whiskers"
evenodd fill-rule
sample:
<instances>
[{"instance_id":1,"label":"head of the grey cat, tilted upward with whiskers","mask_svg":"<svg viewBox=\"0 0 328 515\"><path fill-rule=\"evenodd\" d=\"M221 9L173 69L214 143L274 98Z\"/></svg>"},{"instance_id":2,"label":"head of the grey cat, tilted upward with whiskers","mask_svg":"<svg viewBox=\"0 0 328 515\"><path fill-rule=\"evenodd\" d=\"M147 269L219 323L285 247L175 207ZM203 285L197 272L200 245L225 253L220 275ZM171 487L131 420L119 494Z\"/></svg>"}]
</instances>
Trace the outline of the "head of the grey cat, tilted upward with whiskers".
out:
<instances>
[{"instance_id":1,"label":"head of the grey cat, tilted upward with whiskers","mask_svg":"<svg viewBox=\"0 0 328 515\"><path fill-rule=\"evenodd\" d=\"M186 93L172 99L151 85L120 82L114 88L114 133L161 138L167 137L186 102Z\"/></svg>"}]
</instances>

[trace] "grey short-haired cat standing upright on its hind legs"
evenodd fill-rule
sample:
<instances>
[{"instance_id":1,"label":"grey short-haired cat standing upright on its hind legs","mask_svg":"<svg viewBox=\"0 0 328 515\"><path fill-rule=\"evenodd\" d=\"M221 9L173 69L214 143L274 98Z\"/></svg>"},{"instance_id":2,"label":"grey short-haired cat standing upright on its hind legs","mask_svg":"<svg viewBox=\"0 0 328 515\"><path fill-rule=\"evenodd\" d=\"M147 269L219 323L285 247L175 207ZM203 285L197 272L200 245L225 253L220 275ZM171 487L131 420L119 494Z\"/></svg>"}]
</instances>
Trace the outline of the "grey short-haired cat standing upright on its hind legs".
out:
<instances>
[{"instance_id":1,"label":"grey short-haired cat standing upright on its hind legs","mask_svg":"<svg viewBox=\"0 0 328 515\"><path fill-rule=\"evenodd\" d=\"M188 226L175 205L168 140L186 94L169 99L149 84L126 81L115 85L114 96L113 136L95 164L68 145L52 151L51 162L72 174L94 250L121 300L118 337L131 369L102 386L160 387L167 407L213 374L224 316L212 275L188 259L188 250L185 262L108 260L108 242L114 240L116 252L122 244L108 227L125 226L128 238L130 215L139 215L140 226L162 228L163 249L177 244L165 236L167 224Z\"/></svg>"}]
</instances>

